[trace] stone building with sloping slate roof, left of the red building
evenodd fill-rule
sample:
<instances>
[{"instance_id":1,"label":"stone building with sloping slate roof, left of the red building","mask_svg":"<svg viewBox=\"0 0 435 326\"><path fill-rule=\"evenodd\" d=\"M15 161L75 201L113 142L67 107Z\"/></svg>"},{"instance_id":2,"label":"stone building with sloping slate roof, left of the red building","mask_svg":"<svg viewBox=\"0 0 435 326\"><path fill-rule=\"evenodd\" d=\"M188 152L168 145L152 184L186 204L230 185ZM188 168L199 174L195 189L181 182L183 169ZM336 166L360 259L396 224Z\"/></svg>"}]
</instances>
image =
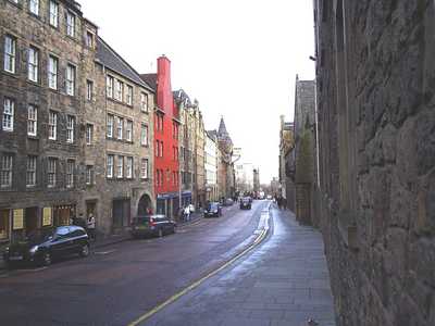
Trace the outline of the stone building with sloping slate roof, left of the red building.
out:
<instances>
[{"instance_id":1,"label":"stone building with sloping slate roof, left of the red building","mask_svg":"<svg viewBox=\"0 0 435 326\"><path fill-rule=\"evenodd\" d=\"M86 188L80 211L102 234L127 229L156 209L153 91L104 40L87 68L84 112Z\"/></svg>"}]
</instances>

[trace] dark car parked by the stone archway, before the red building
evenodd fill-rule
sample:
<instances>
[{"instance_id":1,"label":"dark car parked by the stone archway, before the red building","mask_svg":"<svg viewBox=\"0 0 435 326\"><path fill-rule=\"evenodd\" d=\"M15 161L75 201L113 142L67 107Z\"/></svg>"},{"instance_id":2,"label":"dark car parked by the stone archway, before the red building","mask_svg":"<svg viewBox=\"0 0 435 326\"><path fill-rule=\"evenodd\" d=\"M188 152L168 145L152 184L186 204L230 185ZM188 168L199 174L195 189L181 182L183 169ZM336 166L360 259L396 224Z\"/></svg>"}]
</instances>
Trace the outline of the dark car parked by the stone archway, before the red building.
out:
<instances>
[{"instance_id":1,"label":"dark car parked by the stone archway, before the red building","mask_svg":"<svg viewBox=\"0 0 435 326\"><path fill-rule=\"evenodd\" d=\"M132 236L134 238L156 236L162 237L175 234L176 223L165 215L136 216L132 222Z\"/></svg>"}]
</instances>

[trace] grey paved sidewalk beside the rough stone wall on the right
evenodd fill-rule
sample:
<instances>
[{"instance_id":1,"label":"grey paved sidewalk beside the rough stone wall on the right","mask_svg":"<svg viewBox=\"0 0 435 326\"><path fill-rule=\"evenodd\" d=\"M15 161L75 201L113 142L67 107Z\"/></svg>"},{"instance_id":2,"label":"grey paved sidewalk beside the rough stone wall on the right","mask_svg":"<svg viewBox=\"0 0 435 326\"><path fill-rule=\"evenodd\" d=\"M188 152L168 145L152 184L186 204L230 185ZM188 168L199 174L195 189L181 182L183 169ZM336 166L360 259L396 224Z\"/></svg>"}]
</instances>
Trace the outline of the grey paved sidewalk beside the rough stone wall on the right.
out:
<instances>
[{"instance_id":1,"label":"grey paved sidewalk beside the rough stone wall on the right","mask_svg":"<svg viewBox=\"0 0 435 326\"><path fill-rule=\"evenodd\" d=\"M263 244L141 325L335 326L321 234L271 212Z\"/></svg>"}]
</instances>

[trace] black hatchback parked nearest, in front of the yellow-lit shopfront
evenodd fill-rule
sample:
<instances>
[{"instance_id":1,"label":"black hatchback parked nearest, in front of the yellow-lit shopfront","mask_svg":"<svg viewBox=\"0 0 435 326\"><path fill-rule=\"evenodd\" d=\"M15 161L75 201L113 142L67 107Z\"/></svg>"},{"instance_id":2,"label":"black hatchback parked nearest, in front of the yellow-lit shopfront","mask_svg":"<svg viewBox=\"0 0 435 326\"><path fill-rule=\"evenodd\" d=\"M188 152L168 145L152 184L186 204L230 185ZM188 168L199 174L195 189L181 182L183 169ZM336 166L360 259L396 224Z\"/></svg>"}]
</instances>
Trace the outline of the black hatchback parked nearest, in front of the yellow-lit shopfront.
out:
<instances>
[{"instance_id":1,"label":"black hatchback parked nearest, in front of the yellow-lit shopfront","mask_svg":"<svg viewBox=\"0 0 435 326\"><path fill-rule=\"evenodd\" d=\"M59 226L32 233L23 241L12 243L3 253L7 264L32 263L50 265L55 258L89 254L89 238L79 226Z\"/></svg>"}]
</instances>

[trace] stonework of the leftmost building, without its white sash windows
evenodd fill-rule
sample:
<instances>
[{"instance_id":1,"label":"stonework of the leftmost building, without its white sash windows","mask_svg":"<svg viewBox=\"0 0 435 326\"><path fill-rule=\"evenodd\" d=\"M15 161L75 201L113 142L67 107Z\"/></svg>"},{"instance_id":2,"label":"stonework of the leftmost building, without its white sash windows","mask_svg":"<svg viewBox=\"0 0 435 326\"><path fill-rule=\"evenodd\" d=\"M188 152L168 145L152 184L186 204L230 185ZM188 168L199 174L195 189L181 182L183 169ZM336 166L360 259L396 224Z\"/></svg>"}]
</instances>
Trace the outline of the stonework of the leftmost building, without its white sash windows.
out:
<instances>
[{"instance_id":1,"label":"stonework of the leftmost building, without its white sash windows","mask_svg":"<svg viewBox=\"0 0 435 326\"><path fill-rule=\"evenodd\" d=\"M0 190L0 208L26 209L37 208L37 226L41 227L42 208L53 205L77 204L77 195L83 188L79 177L80 158L83 155L79 126L83 117L80 53L83 51L82 24L83 17L79 11L69 7L76 14L76 36L66 36L64 16L66 7L59 2L59 28L51 27L48 22L48 1L40 1L39 16L30 14L27 2L14 4L11 1L0 2L0 116L3 113L3 100L5 97L15 101L14 130L5 131L0 127L0 155L13 154L13 185L11 188ZM3 70L4 37L11 35L16 40L15 74ZM29 46L39 50L39 78L38 83L27 78L27 53ZM48 87L48 58L55 55L59 60L58 89ZM66 64L76 66L77 78L75 96L65 93ZM37 136L27 135L27 108L28 104L37 106ZM48 139L49 111L58 112L58 139ZM66 115L76 118L75 141L66 143ZM1 118L0 118L1 120ZM36 187L26 187L27 155L37 156ZM57 186L47 187L48 158L58 158ZM75 179L74 187L66 188L66 160L74 160ZM12 216L11 216L12 221ZM21 233L21 230L16 231ZM14 234L14 233L13 233Z\"/></svg>"}]
</instances>

